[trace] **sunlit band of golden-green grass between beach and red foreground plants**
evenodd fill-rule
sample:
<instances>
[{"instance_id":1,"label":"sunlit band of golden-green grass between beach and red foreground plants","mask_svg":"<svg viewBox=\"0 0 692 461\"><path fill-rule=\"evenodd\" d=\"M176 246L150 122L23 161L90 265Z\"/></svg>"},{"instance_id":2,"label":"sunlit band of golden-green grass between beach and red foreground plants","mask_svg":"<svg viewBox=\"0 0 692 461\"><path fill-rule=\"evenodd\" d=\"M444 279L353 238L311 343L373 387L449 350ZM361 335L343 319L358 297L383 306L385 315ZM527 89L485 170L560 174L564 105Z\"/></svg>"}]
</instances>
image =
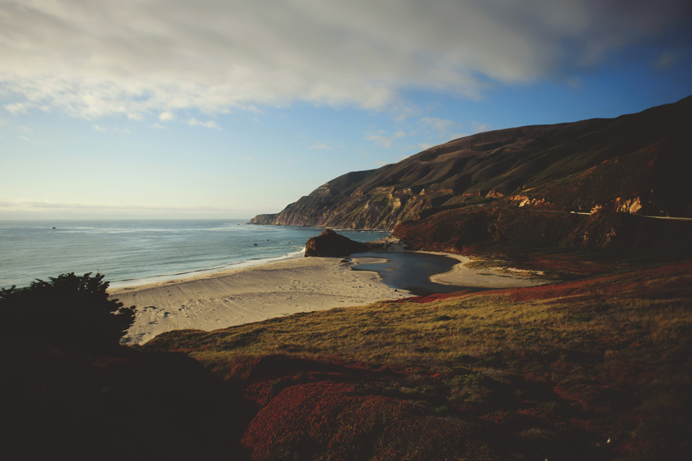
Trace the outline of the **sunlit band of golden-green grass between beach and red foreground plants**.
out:
<instances>
[{"instance_id":1,"label":"sunlit band of golden-green grass between beach and red foreground plants","mask_svg":"<svg viewBox=\"0 0 692 461\"><path fill-rule=\"evenodd\" d=\"M425 304L377 302L214 332L170 332L146 347L181 350L203 363L289 354L435 373L459 354L525 356L577 338L581 347L603 338L671 343L692 325L687 298L650 300L608 288L526 302L491 292Z\"/></svg>"}]
</instances>

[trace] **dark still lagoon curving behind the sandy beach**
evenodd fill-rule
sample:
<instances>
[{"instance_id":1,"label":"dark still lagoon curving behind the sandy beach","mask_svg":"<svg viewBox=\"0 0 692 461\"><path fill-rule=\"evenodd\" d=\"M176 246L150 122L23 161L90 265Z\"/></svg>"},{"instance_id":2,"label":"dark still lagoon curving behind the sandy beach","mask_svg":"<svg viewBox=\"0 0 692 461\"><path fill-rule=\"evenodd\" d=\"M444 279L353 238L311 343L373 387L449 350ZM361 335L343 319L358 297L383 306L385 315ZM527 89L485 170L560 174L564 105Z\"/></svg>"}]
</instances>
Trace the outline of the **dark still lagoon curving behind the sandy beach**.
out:
<instances>
[{"instance_id":1,"label":"dark still lagoon curving behind the sandy beach","mask_svg":"<svg viewBox=\"0 0 692 461\"><path fill-rule=\"evenodd\" d=\"M353 253L351 257L374 257L383 260L383 262L355 264L351 269L352 271L376 272L388 287L407 290L416 296L478 289L477 287L430 282L430 275L448 272L455 264L459 263L459 260L453 257L412 251L389 251L387 253L368 251Z\"/></svg>"}]
</instances>

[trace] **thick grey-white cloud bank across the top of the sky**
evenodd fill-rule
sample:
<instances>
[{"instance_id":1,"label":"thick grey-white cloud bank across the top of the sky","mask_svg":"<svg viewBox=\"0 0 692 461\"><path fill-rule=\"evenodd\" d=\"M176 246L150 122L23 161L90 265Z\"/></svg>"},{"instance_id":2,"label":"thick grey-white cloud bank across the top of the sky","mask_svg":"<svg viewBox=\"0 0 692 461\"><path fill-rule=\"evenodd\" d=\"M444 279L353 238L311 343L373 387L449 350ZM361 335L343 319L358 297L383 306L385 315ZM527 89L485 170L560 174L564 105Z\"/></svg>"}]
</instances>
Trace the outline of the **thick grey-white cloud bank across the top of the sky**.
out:
<instances>
[{"instance_id":1,"label":"thick grey-white cloud bank across the top of the sky","mask_svg":"<svg viewBox=\"0 0 692 461\"><path fill-rule=\"evenodd\" d=\"M406 89L479 98L488 84L569 75L630 45L661 44L657 65L670 66L689 52L676 41L688 3L6 0L0 101L11 114L166 121L296 100L388 109Z\"/></svg>"}]
</instances>

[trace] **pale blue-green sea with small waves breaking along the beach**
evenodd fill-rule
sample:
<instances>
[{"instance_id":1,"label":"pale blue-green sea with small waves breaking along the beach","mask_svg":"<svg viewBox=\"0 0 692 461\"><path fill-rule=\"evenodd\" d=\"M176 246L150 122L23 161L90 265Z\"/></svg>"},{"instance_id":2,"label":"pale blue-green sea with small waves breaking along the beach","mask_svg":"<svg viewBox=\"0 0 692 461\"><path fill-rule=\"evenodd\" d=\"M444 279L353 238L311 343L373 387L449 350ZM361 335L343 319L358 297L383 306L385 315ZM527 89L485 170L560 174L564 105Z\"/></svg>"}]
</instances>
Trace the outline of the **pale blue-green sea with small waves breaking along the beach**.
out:
<instances>
[{"instance_id":1,"label":"pale blue-green sea with small waves breaking along the beach","mask_svg":"<svg viewBox=\"0 0 692 461\"><path fill-rule=\"evenodd\" d=\"M0 222L0 288L100 272L111 287L170 280L302 255L322 229L248 219ZM358 242L386 232L339 231ZM256 244L256 246L255 246Z\"/></svg>"}]
</instances>

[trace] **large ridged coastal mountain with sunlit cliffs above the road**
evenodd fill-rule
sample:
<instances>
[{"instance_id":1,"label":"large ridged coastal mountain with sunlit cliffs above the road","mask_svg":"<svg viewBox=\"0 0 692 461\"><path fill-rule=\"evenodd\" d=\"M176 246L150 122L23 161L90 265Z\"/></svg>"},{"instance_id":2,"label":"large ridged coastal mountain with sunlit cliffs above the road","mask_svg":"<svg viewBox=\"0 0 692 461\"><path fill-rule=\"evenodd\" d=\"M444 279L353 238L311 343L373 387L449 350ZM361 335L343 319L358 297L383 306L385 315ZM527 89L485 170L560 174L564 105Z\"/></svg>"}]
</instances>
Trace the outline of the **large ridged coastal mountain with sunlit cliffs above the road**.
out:
<instances>
[{"instance_id":1,"label":"large ridged coastal mountain with sunlit cliffs above the road","mask_svg":"<svg viewBox=\"0 0 692 461\"><path fill-rule=\"evenodd\" d=\"M639 114L500 129L351 172L254 224L392 229L466 206L692 217L692 97Z\"/></svg>"}]
</instances>

